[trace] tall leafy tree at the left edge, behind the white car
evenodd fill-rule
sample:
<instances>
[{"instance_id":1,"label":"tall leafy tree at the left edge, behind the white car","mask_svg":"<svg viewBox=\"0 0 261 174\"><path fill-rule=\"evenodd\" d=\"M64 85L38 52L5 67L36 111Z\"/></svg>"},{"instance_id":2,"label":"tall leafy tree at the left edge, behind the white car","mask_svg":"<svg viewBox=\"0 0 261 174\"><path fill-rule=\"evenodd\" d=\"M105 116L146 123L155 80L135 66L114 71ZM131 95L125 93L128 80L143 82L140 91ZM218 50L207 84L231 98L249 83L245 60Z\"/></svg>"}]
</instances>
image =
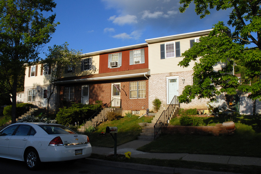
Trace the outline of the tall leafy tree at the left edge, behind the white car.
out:
<instances>
[{"instance_id":1,"label":"tall leafy tree at the left edge, behind the white car","mask_svg":"<svg viewBox=\"0 0 261 174\"><path fill-rule=\"evenodd\" d=\"M0 90L12 94L12 123L16 122L19 76L25 74L26 64L38 60L39 52L55 32L56 15L43 14L55 7L53 0L0 1Z\"/></svg>"}]
</instances>

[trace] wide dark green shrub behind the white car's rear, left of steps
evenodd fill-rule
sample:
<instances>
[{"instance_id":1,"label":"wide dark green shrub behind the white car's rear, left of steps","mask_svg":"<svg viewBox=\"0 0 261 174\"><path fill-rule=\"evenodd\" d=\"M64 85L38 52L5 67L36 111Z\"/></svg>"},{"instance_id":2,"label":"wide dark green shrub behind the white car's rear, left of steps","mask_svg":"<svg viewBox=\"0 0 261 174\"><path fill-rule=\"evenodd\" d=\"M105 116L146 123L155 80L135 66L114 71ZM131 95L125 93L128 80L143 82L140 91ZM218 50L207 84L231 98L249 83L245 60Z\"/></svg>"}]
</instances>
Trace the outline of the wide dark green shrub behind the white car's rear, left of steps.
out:
<instances>
[{"instance_id":1,"label":"wide dark green shrub behind the white car's rear, left of steps","mask_svg":"<svg viewBox=\"0 0 261 174\"><path fill-rule=\"evenodd\" d=\"M101 107L101 103L90 105L74 103L69 108L60 108L60 111L57 112L56 120L58 124L62 125L75 123L82 124L85 120L89 119L96 111L99 111Z\"/></svg>"}]
</instances>

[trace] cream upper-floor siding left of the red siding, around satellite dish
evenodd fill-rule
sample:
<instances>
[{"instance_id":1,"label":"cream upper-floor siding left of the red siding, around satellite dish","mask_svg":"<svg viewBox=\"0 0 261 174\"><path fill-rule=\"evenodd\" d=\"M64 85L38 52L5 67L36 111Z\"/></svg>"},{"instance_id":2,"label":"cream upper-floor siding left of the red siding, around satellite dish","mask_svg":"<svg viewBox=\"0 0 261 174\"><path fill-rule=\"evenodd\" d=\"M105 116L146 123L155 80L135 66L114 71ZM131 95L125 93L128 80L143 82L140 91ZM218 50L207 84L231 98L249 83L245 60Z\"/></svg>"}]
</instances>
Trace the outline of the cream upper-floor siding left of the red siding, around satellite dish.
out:
<instances>
[{"instance_id":1,"label":"cream upper-floor siding left of the red siding, around satellite dish","mask_svg":"<svg viewBox=\"0 0 261 174\"><path fill-rule=\"evenodd\" d=\"M100 63L100 55L90 56L92 57L92 65L96 67L95 73L92 70L81 71L81 60L76 63L75 72L74 73L64 73L62 77L71 77L71 76L81 76L81 75L89 75L89 74L99 74L99 63ZM84 57L88 58L88 57ZM82 59L84 59L82 58Z\"/></svg>"}]
</instances>

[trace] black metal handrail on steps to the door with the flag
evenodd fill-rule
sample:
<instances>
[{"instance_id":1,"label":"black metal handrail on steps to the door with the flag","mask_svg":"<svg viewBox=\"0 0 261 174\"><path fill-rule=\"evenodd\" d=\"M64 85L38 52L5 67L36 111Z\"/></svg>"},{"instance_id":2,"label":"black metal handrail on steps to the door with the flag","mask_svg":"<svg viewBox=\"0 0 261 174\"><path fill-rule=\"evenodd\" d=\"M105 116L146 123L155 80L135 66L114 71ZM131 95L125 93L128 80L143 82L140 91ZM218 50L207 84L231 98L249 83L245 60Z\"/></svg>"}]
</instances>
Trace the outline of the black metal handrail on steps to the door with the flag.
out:
<instances>
[{"instance_id":1,"label":"black metal handrail on steps to the door with the flag","mask_svg":"<svg viewBox=\"0 0 261 174\"><path fill-rule=\"evenodd\" d=\"M93 116L96 115L96 117L92 118L92 116L88 121L86 121L84 128L94 127L94 124L99 120L104 119L104 117L115 107L121 108L121 99L112 99L110 103L102 107L102 110L98 114L98 111L94 113Z\"/></svg>"}]
</instances>

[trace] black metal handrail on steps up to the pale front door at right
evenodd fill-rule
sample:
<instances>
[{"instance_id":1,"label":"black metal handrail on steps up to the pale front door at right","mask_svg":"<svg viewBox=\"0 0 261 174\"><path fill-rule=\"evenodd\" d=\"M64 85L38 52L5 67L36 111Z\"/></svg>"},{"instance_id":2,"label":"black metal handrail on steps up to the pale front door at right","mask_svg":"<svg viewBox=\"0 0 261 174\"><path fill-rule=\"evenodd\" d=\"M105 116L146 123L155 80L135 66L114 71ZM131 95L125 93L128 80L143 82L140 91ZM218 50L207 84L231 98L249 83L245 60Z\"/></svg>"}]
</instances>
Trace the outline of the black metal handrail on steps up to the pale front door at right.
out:
<instances>
[{"instance_id":1,"label":"black metal handrail on steps up to the pale front door at right","mask_svg":"<svg viewBox=\"0 0 261 174\"><path fill-rule=\"evenodd\" d=\"M162 125L168 121L168 119L171 115L171 112L173 111L175 106L179 106L179 99L178 99L178 96L176 96L176 95L171 100L168 108L161 113L161 116L159 116L158 120L156 121L156 123L154 125L154 139L156 138L159 131L161 130Z\"/></svg>"}]
</instances>

